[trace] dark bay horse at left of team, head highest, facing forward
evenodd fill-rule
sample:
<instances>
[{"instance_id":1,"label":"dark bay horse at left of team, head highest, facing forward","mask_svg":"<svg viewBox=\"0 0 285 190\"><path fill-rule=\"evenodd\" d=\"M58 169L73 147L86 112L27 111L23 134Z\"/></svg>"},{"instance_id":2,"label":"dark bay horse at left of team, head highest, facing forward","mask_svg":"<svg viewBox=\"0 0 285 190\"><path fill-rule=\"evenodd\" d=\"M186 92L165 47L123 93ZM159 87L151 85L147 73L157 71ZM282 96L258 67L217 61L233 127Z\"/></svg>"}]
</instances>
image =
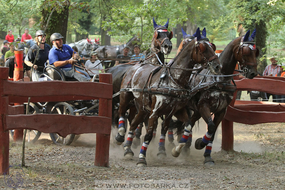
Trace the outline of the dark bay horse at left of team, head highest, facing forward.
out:
<instances>
[{"instance_id":1,"label":"dark bay horse at left of team, head highest, facing forward","mask_svg":"<svg viewBox=\"0 0 285 190\"><path fill-rule=\"evenodd\" d=\"M167 28L168 28L168 23L169 20L167 20L167 23L164 26L161 25L157 25L154 18L153 18L153 27L154 27L154 32L153 32L153 38L151 41L151 54L149 55L149 57L152 57L151 59L147 59L147 61L151 61L152 63L165 63L164 61L164 54L168 55L171 50L172 50L172 43L171 43L171 39L173 36L172 31L168 32ZM157 52L157 50L159 50ZM156 55L155 55L156 54ZM132 67L134 66L134 64L125 64L125 65L117 65L114 66L110 69L108 69L106 71L106 73L112 73L113 76L113 94L116 94L120 91L121 89L121 83L123 80L123 77L125 75L125 73ZM112 118L114 119L114 123L115 123L115 128L118 128L118 109L117 109L117 104L120 102L120 95L115 96L113 98L113 115ZM129 107L131 107L130 104ZM136 108L135 109L135 113ZM134 113L134 114L135 114ZM129 122L131 123L133 117L129 117Z\"/></svg>"}]
</instances>

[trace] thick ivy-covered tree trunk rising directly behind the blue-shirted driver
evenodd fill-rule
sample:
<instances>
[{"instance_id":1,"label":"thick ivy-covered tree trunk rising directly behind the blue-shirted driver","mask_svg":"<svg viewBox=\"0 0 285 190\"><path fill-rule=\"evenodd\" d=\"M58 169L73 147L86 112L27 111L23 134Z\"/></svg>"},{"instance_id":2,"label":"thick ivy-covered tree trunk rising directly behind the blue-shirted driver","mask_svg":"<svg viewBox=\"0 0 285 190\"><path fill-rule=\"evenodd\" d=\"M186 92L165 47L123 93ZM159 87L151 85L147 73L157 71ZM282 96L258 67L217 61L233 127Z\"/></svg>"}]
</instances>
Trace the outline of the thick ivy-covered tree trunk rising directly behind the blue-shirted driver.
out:
<instances>
[{"instance_id":1,"label":"thick ivy-covered tree trunk rising directly behind the blue-shirted driver","mask_svg":"<svg viewBox=\"0 0 285 190\"><path fill-rule=\"evenodd\" d=\"M58 14L58 12L53 12L50 23L47 26L45 33L47 34L46 43L52 46L50 42L50 36L53 33L60 33L64 38L62 39L63 44L66 43L66 32L67 32L67 21L68 21L68 7L64 7L64 10ZM50 16L51 11L42 10L42 30L45 29L47 19Z\"/></svg>"}]
</instances>

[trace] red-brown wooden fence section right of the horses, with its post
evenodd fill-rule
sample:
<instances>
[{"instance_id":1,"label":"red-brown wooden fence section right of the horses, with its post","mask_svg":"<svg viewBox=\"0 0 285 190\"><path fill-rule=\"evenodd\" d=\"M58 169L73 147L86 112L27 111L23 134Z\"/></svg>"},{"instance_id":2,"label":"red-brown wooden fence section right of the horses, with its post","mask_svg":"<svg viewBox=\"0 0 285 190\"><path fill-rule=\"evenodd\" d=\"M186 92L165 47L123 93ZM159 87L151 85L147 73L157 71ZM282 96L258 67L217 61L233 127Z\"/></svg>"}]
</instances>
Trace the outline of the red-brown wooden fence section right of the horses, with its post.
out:
<instances>
[{"instance_id":1,"label":"red-brown wooden fence section right of the horses, with its post","mask_svg":"<svg viewBox=\"0 0 285 190\"><path fill-rule=\"evenodd\" d=\"M260 76L254 79L235 80L237 90L263 91L272 94L285 94L284 77ZM236 93L235 93L236 95ZM261 124L285 122L285 103L232 100L222 121L222 150L233 150L233 122Z\"/></svg>"}]
</instances>

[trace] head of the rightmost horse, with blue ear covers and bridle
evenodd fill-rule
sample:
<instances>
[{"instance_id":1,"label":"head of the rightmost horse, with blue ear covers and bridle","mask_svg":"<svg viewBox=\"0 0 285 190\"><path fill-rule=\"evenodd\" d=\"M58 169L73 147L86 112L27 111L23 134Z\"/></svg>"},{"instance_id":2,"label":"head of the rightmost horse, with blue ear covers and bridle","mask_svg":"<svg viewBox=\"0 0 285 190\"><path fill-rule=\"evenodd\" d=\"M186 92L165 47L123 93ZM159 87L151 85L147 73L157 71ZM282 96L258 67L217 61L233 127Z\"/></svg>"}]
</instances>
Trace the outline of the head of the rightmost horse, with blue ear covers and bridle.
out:
<instances>
[{"instance_id":1,"label":"head of the rightmost horse, with blue ear covers and bridle","mask_svg":"<svg viewBox=\"0 0 285 190\"><path fill-rule=\"evenodd\" d=\"M244 37L240 37L239 44L233 49L235 59L239 62L241 69L246 72L246 77L249 79L257 76L257 61L259 49L255 46L254 37L256 29L250 35L250 30L246 32Z\"/></svg>"}]
</instances>

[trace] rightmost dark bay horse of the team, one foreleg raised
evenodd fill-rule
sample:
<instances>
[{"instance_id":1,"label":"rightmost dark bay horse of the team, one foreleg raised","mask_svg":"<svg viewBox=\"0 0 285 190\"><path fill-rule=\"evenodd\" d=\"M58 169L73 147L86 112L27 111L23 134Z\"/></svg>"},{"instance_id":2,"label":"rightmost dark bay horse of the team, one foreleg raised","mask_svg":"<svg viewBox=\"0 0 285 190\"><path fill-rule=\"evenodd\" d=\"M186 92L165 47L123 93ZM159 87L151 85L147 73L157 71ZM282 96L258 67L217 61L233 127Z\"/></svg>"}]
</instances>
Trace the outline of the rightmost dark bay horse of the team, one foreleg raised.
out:
<instances>
[{"instance_id":1,"label":"rightmost dark bay horse of the team, one foreleg raised","mask_svg":"<svg viewBox=\"0 0 285 190\"><path fill-rule=\"evenodd\" d=\"M203 138L199 138L195 142L196 149L202 149L206 146L204 157L205 165L214 165L214 160L211 158L211 149L215 132L221 123L224 115L226 114L227 106L230 104L233 98L233 93L236 87L231 84L232 75L237 62L239 62L241 68L246 72L246 77L249 79L254 78L257 75L257 61L256 57L259 55L259 50L255 47L254 37L256 30L250 36L250 31L246 33L244 37L238 37L230 42L222 52L219 60L222 65L220 76L198 76L191 80L191 88L194 88L201 83L213 83L219 81L225 81L223 85L216 85L210 89L201 91L195 94L188 102L188 106L194 111L191 121L191 131L196 121L201 117L208 125L208 132ZM200 74L209 74L206 69L203 69ZM214 119L211 118L211 113L214 113ZM183 127L181 122L181 127ZM179 128L179 127L178 127ZM179 130L179 129L178 129ZM189 150L191 145L191 139L188 139L186 143L186 150ZM179 145L178 145L179 146Z\"/></svg>"}]
</instances>

